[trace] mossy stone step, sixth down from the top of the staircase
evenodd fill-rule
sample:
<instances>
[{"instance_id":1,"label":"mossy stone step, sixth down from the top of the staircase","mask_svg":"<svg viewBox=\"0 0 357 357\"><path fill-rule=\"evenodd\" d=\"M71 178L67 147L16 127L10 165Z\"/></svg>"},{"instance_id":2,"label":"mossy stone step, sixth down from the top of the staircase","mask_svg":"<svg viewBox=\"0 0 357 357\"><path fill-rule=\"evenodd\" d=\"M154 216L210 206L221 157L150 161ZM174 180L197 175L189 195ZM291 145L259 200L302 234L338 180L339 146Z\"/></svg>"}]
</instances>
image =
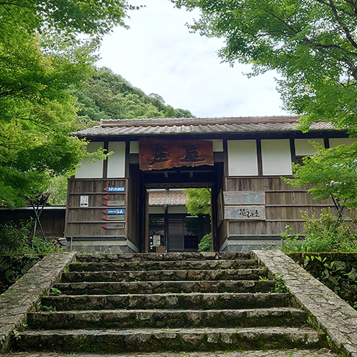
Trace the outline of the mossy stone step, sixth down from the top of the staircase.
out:
<instances>
[{"instance_id":1,"label":"mossy stone step, sixth down from the top of the staircase","mask_svg":"<svg viewBox=\"0 0 357 357\"><path fill-rule=\"evenodd\" d=\"M29 313L33 329L183 328L301 326L307 320L296 308L241 310L99 310Z\"/></svg>"}]
</instances>

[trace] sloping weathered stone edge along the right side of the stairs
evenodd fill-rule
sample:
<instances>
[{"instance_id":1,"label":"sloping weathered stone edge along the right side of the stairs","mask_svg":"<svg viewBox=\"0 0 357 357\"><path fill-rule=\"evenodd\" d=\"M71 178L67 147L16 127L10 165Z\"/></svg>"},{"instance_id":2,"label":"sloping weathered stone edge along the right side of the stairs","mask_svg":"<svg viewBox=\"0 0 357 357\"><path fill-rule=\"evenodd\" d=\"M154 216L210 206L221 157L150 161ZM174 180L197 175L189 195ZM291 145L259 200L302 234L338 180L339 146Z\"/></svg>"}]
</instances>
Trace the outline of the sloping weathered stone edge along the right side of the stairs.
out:
<instances>
[{"instance_id":1,"label":"sloping weathered stone edge along the right side of the stairs","mask_svg":"<svg viewBox=\"0 0 357 357\"><path fill-rule=\"evenodd\" d=\"M338 350L357 357L357 311L282 251L251 251L273 276L283 274L286 288L326 330Z\"/></svg>"}]
</instances>

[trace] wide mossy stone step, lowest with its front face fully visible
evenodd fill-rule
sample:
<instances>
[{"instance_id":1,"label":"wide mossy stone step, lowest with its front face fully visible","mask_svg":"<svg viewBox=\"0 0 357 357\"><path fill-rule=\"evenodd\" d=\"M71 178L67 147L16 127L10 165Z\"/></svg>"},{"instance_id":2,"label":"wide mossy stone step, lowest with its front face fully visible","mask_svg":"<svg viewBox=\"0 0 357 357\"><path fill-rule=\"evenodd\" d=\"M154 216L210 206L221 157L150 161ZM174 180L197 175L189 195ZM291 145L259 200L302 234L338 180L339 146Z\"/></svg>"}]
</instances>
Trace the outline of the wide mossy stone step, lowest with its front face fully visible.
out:
<instances>
[{"instance_id":1,"label":"wide mossy stone step, lowest with its front face fully visible","mask_svg":"<svg viewBox=\"0 0 357 357\"><path fill-rule=\"evenodd\" d=\"M325 338L310 328L37 330L16 337L16 351L65 353L322 348Z\"/></svg>"}]
</instances>

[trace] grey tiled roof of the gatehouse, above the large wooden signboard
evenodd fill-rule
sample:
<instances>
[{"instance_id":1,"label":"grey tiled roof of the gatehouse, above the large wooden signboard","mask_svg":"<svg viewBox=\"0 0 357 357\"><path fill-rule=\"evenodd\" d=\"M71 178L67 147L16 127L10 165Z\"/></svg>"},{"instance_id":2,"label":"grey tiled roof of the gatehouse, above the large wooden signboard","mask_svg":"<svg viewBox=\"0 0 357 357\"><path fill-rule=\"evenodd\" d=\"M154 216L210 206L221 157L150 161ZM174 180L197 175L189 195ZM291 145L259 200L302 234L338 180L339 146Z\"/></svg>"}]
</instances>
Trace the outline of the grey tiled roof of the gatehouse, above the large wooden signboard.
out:
<instances>
[{"instance_id":1,"label":"grey tiled roof of the gatehouse, above the large wooden signboard","mask_svg":"<svg viewBox=\"0 0 357 357\"><path fill-rule=\"evenodd\" d=\"M230 134L261 131L298 131L298 116L247 116L238 118L103 120L100 126L76 131L74 136L144 136L173 134ZM336 130L318 121L311 131Z\"/></svg>"}]
</instances>

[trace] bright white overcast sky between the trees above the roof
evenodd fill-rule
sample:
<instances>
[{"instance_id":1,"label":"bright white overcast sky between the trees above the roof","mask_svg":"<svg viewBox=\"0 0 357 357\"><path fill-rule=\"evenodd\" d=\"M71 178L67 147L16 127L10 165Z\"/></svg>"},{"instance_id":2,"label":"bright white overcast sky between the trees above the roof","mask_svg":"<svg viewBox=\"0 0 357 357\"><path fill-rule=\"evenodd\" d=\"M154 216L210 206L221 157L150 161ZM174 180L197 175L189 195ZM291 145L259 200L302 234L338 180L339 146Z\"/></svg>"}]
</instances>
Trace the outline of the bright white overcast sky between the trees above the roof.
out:
<instances>
[{"instance_id":1,"label":"bright white overcast sky between the trees above the roof","mask_svg":"<svg viewBox=\"0 0 357 357\"><path fill-rule=\"evenodd\" d=\"M156 93L174 108L197 117L284 115L276 74L248 79L248 66L221 64L221 39L190 34L186 22L197 13L175 9L169 0L135 0L129 30L104 38L98 66L120 74L146 94Z\"/></svg>"}]
</instances>

